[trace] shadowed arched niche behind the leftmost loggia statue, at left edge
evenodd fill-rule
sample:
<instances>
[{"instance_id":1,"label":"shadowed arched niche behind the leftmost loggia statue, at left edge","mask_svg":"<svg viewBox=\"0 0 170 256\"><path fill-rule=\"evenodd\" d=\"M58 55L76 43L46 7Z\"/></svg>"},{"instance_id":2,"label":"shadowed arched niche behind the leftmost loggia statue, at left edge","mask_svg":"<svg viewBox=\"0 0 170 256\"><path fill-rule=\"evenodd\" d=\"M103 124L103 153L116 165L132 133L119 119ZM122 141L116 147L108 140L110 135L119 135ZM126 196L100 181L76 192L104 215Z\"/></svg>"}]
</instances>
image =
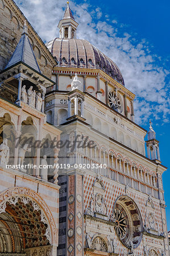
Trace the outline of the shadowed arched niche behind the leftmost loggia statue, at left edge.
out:
<instances>
[{"instance_id":1,"label":"shadowed arched niche behind the leftmost loggia statue, at left edge","mask_svg":"<svg viewBox=\"0 0 170 256\"><path fill-rule=\"evenodd\" d=\"M3 117L0 117L0 144L3 143L3 139L7 139L7 145L10 150L9 164L14 163L14 151L15 151L15 126L11 121L9 113L5 113Z\"/></svg>"}]
</instances>

